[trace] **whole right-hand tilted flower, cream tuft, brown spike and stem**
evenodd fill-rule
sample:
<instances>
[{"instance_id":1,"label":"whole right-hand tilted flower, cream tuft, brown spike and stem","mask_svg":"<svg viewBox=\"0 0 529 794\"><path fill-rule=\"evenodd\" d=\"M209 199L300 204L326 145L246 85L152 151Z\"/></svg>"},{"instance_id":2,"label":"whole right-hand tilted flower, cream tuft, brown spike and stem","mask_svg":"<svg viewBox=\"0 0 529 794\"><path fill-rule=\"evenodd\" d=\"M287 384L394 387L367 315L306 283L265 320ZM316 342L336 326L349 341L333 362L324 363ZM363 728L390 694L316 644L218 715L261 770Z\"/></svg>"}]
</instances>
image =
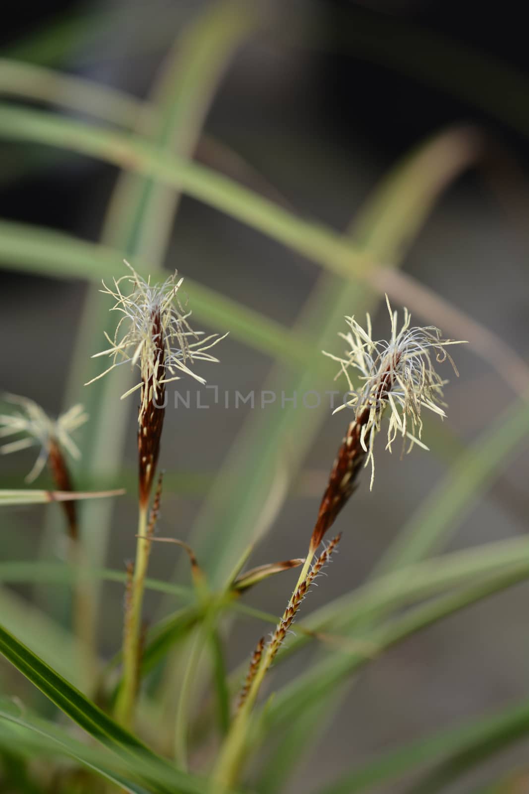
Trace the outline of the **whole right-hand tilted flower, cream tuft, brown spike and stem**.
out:
<instances>
[{"instance_id":1,"label":"whole right-hand tilted flower, cream tuft, brown spike and stem","mask_svg":"<svg viewBox=\"0 0 529 794\"><path fill-rule=\"evenodd\" d=\"M240 697L239 711L233 720L217 762L214 779L221 791L236 783L243 758L247 718L259 694L263 678L274 661L310 584L339 542L339 535L329 543L320 557L317 557L316 562L313 562L316 550L355 491L360 469L369 463L371 464L370 485L371 488L373 487L374 440L381 430L382 418L386 413L389 414L386 449L391 452L393 442L397 435L400 435L404 445L408 442L409 452L414 445L427 449L421 441L422 410L427 408L441 418L445 416L443 386L446 381L441 380L435 372L431 357L435 355L438 363L448 358L457 375L457 369L446 348L448 345L460 343L443 339L440 330L435 326L410 327L411 316L406 309L404 309L401 330L397 330L397 312L393 312L389 306L387 296L386 302L391 321L389 341L372 339L369 314L366 329L362 328L354 317L350 317L347 318L349 332L340 334L340 337L347 341L346 357L331 355L333 359L339 361L339 374L343 373L347 377L351 390L350 401L337 410L348 407L355 411L355 416L347 426L347 432L332 466L312 530L309 553L305 558L293 595L270 642L263 646L263 642L260 641L251 658L250 669ZM326 355L330 354L326 353ZM359 373L361 387L358 391L354 391L349 377L351 368ZM218 788L216 792L217 790Z\"/></svg>"}]
</instances>

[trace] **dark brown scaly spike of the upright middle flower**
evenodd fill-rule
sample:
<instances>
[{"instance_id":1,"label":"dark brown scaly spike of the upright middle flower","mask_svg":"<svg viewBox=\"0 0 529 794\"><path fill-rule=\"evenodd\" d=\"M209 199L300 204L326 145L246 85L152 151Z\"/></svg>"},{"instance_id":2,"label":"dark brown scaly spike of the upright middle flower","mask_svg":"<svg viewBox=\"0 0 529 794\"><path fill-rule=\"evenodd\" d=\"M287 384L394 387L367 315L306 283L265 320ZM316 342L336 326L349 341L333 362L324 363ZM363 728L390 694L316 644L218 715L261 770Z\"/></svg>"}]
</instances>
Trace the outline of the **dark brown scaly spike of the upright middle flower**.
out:
<instances>
[{"instance_id":1,"label":"dark brown scaly spike of the upright middle flower","mask_svg":"<svg viewBox=\"0 0 529 794\"><path fill-rule=\"evenodd\" d=\"M140 504L147 505L159 456L159 441L165 415L165 387L159 381L165 376L163 330L159 310L152 314L152 339L156 341L152 371L158 362L156 380L151 375L141 387L140 422L138 428L138 461L140 465ZM143 407L144 406L144 407Z\"/></svg>"}]
</instances>

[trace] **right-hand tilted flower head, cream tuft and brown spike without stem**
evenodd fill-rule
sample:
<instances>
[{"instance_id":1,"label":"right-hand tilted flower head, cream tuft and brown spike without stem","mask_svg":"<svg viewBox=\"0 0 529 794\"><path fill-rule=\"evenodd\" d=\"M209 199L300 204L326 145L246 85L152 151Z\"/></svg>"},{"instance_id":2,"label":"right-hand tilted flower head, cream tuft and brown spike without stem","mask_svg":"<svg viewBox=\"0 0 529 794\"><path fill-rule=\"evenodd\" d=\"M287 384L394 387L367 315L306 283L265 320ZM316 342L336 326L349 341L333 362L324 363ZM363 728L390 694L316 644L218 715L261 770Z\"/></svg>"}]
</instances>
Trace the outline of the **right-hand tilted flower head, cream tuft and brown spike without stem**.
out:
<instances>
[{"instance_id":1,"label":"right-hand tilted flower head, cream tuft and brown spike without stem","mask_svg":"<svg viewBox=\"0 0 529 794\"><path fill-rule=\"evenodd\" d=\"M366 329L348 317L349 333L339 336L347 341L347 358L339 358L325 353L340 363L340 374L347 377L351 390L351 400L336 410L349 407L355 409L355 418L349 423L347 433L335 458L327 488L320 503L316 525L312 532L310 551L314 553L324 534L335 522L336 516L347 503L356 488L356 479L362 465L371 464L370 488L374 482L374 439L381 429L381 420L387 408L390 409L388 441L386 449L397 434L404 440L408 438L409 452L417 444L427 449L420 440L423 422L421 410L427 408L443 418L443 386L432 364L431 353L435 360L442 363L448 359L458 375L454 361L445 349L447 345L460 345L462 342L442 339L439 328L410 328L411 315L404 309L404 322L397 332L397 312L393 312L386 295L386 303L391 320L389 341L373 341L371 320L367 314ZM360 373L361 387L355 391L348 369ZM337 376L337 377L338 377Z\"/></svg>"}]
</instances>

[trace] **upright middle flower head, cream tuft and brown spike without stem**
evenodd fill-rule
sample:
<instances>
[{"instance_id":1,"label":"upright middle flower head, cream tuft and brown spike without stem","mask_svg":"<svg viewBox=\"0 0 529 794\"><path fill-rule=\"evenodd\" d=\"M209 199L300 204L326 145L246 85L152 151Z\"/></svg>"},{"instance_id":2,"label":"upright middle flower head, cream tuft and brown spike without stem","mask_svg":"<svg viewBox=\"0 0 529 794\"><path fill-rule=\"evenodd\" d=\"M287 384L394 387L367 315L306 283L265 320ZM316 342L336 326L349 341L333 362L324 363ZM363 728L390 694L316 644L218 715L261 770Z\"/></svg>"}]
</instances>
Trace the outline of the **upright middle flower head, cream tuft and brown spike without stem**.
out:
<instances>
[{"instance_id":1,"label":"upright middle flower head, cream tuft and brown spike without stem","mask_svg":"<svg viewBox=\"0 0 529 794\"><path fill-rule=\"evenodd\" d=\"M140 502L147 503L159 455L165 385L178 380L180 374L205 383L190 365L196 361L217 362L218 359L208 351L224 337L217 333L204 337L203 332L191 329L188 322L190 311L186 312L178 299L183 279L177 281L176 272L162 284L151 285L150 280L144 281L128 262L125 264L132 275L114 279L113 288L103 282L105 289L102 290L116 301L112 311L123 316L113 339L105 333L109 349L96 353L94 358L109 356L113 363L89 384L120 364L128 363L140 368L140 383L126 391L121 399L141 389L138 414ZM132 287L126 295L121 288L124 281Z\"/></svg>"}]
</instances>

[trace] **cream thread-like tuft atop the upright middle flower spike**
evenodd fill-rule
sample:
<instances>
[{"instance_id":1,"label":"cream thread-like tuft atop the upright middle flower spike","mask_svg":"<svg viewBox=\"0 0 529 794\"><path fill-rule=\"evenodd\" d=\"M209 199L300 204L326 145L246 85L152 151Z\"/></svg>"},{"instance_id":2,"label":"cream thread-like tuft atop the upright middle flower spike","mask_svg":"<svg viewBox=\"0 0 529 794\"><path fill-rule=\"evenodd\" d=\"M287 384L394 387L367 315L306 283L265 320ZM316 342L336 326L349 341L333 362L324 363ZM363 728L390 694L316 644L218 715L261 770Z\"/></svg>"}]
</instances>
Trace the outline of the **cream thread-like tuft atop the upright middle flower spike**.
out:
<instances>
[{"instance_id":1,"label":"cream thread-like tuft atop the upright middle flower spike","mask_svg":"<svg viewBox=\"0 0 529 794\"><path fill-rule=\"evenodd\" d=\"M204 378L187 366L187 362L190 364L194 364L196 360L218 362L217 358L206 351L217 345L226 334L219 337L217 333L212 333L204 337L203 331L191 329L187 322L191 312L185 312L182 303L176 297L183 282L183 279L176 280L176 271L162 284L151 285L150 279L144 281L126 260L125 264L130 268L132 276L113 279L114 288L107 287L103 281L105 289L101 290L116 301L111 311L119 311L123 317L117 325L113 339L105 333L110 343L109 349L92 357L109 356L113 363L101 375L89 380L88 384L99 380L120 364L130 363L132 366L139 366L140 383L121 395L121 399L132 394L132 391L139 389L142 384L149 384L151 388L143 391L141 415L152 394L159 394L160 385L179 379L176 372L183 372L201 384L205 383ZM132 291L128 295L124 295L121 291L121 283L124 280L132 285ZM124 329L125 333L122 333ZM162 361L163 366L160 366ZM171 377L167 377L167 372Z\"/></svg>"}]
</instances>

